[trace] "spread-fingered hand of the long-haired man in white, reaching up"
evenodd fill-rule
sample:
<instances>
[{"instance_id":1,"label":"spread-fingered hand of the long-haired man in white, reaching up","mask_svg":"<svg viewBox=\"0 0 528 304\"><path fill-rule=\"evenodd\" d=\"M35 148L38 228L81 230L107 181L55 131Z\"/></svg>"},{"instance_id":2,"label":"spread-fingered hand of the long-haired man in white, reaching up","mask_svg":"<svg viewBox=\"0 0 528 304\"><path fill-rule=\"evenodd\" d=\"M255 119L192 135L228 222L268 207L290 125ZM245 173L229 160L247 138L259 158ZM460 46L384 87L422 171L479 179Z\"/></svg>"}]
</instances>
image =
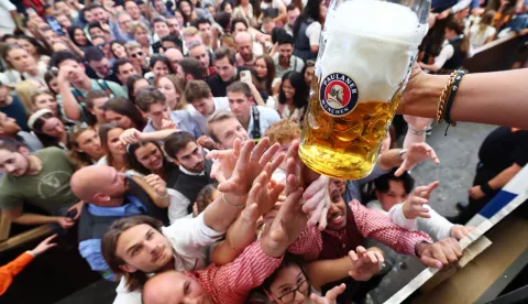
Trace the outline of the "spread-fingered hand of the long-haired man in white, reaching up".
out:
<instances>
[{"instance_id":1,"label":"spread-fingered hand of the long-haired man in white, reaching up","mask_svg":"<svg viewBox=\"0 0 528 304\"><path fill-rule=\"evenodd\" d=\"M240 151L232 175L218 185L218 191L243 196L250 192L253 181L263 171L271 176L283 162L284 155L273 160L280 145L276 143L266 150L268 143L270 139L267 138L261 139L256 145L254 141L246 141ZM266 166L267 163L271 165Z\"/></svg>"}]
</instances>

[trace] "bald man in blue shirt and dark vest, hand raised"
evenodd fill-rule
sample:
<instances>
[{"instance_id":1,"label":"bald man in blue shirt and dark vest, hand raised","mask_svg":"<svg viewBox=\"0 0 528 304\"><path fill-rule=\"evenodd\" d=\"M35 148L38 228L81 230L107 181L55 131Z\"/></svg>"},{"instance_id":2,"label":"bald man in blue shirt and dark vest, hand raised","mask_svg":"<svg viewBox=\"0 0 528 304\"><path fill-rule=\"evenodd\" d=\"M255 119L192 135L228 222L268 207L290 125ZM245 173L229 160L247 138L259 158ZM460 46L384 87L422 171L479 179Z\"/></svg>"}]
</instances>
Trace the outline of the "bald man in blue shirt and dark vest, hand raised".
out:
<instances>
[{"instance_id":1,"label":"bald man in blue shirt and dark vest, hand raised","mask_svg":"<svg viewBox=\"0 0 528 304\"><path fill-rule=\"evenodd\" d=\"M165 209L168 204L164 206L158 203L163 199L151 198L168 196L165 182L157 175L148 175L145 181L146 185L140 186L141 181L134 182L106 165L82 167L72 176L72 191L86 203L79 220L79 252L91 270L107 280L113 281L116 275L102 258L100 243L112 221L133 215L150 215L168 224Z\"/></svg>"}]
</instances>

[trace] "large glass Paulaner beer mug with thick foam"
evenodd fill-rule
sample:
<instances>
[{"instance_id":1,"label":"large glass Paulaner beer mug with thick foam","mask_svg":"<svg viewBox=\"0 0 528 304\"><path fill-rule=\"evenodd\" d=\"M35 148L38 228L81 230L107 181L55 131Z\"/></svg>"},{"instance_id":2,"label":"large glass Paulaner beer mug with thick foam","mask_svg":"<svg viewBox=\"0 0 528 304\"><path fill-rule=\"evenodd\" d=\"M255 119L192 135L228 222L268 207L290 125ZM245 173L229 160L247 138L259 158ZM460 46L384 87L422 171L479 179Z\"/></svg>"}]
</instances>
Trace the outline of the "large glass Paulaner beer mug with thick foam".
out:
<instances>
[{"instance_id":1,"label":"large glass Paulaner beer mug with thick foam","mask_svg":"<svg viewBox=\"0 0 528 304\"><path fill-rule=\"evenodd\" d=\"M372 172L429 9L429 0L331 1L299 146L310 169L344 180Z\"/></svg>"}]
</instances>

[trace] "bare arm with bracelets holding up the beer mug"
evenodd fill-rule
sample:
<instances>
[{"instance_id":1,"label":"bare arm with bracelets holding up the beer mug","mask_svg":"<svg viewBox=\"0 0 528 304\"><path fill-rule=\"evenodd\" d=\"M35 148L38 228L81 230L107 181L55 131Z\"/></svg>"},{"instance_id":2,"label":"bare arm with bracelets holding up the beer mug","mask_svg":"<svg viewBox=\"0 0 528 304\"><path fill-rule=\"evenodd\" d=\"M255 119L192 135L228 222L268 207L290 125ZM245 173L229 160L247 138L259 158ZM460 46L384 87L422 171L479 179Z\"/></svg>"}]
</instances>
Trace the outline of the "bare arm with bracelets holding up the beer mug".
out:
<instances>
[{"instance_id":1,"label":"bare arm with bracelets holding up the beer mug","mask_svg":"<svg viewBox=\"0 0 528 304\"><path fill-rule=\"evenodd\" d=\"M527 68L465 75L454 97L451 118L454 121L528 129L525 115L528 112L527 77ZM427 75L420 85L406 93L406 99L411 101L406 101L407 105L398 112L436 118L438 101L448 78L448 75Z\"/></svg>"}]
</instances>

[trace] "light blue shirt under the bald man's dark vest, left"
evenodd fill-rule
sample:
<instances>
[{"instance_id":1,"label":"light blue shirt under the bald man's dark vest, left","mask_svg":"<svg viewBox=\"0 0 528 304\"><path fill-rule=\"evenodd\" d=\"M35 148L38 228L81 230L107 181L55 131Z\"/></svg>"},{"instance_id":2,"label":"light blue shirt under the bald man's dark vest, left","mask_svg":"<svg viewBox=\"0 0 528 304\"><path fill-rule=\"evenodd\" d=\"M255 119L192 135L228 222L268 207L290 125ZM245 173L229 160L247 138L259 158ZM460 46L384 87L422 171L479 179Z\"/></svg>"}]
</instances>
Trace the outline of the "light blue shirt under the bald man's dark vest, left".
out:
<instances>
[{"instance_id":1,"label":"light blue shirt under the bald man's dark vest, left","mask_svg":"<svg viewBox=\"0 0 528 304\"><path fill-rule=\"evenodd\" d=\"M124 204L119 207L98 207L89 204L88 211L96 216L121 216L128 217L133 215L141 215L146 211L145 206L132 195L124 197ZM110 270L110 267L105 261L101 253L101 239L89 239L79 242L79 252L82 258L88 262L91 270L101 273L101 275L113 281L116 274Z\"/></svg>"}]
</instances>

